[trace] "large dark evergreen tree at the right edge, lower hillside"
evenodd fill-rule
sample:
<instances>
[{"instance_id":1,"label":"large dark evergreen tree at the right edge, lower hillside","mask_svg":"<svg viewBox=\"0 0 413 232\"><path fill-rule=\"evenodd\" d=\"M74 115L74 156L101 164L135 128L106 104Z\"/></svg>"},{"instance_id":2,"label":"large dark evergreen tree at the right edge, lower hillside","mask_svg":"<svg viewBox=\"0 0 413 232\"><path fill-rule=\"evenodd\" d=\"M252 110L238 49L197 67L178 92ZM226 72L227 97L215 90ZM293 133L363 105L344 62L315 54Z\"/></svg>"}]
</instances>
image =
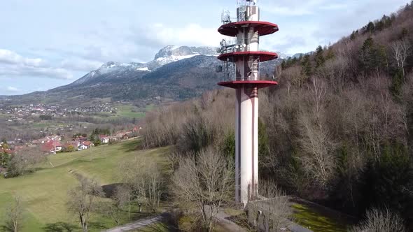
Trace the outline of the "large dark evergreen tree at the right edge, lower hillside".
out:
<instances>
[{"instance_id":1,"label":"large dark evergreen tree at the right edge, lower hillside","mask_svg":"<svg viewBox=\"0 0 413 232\"><path fill-rule=\"evenodd\" d=\"M405 187L412 186L413 168L407 147L397 142L383 145L380 159L371 160L363 176L361 211L381 205L411 217L413 195Z\"/></svg>"}]
</instances>

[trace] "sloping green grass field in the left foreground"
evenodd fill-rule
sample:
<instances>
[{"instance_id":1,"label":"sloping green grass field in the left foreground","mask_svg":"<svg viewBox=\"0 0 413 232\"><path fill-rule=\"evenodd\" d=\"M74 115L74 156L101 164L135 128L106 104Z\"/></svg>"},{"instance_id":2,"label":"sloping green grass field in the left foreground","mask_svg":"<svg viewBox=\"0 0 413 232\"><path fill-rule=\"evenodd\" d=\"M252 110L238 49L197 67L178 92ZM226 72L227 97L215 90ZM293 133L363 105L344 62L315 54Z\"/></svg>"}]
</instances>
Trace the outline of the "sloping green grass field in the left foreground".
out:
<instances>
[{"instance_id":1,"label":"sloping green grass field in the left foreground","mask_svg":"<svg viewBox=\"0 0 413 232\"><path fill-rule=\"evenodd\" d=\"M100 184L120 182L122 162L135 157L147 157L165 164L169 148L135 150L139 140L130 140L117 145L94 147L82 152L61 153L50 156L48 164L35 173L3 179L0 177L0 225L10 200L15 194L22 197L25 205L25 223L22 231L64 231L66 226L78 230L76 215L67 212L67 191L75 187L77 180L69 171L94 177ZM53 167L52 167L53 166ZM115 226L108 218L92 218L90 231L100 231Z\"/></svg>"}]
</instances>

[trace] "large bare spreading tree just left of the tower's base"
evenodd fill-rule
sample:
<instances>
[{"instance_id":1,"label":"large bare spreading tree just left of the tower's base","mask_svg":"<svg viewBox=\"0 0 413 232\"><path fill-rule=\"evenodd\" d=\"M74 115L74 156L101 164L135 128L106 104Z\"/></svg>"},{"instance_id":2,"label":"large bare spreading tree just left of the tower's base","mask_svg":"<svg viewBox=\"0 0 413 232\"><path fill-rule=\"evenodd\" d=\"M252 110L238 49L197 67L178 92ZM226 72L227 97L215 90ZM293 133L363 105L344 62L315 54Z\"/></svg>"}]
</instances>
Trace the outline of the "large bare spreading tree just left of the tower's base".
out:
<instances>
[{"instance_id":1,"label":"large bare spreading tree just left of the tower's base","mask_svg":"<svg viewBox=\"0 0 413 232\"><path fill-rule=\"evenodd\" d=\"M209 148L194 156L182 157L172 181L181 201L197 206L204 226L213 231L214 215L225 199L232 194L233 165L222 154Z\"/></svg>"}]
</instances>

